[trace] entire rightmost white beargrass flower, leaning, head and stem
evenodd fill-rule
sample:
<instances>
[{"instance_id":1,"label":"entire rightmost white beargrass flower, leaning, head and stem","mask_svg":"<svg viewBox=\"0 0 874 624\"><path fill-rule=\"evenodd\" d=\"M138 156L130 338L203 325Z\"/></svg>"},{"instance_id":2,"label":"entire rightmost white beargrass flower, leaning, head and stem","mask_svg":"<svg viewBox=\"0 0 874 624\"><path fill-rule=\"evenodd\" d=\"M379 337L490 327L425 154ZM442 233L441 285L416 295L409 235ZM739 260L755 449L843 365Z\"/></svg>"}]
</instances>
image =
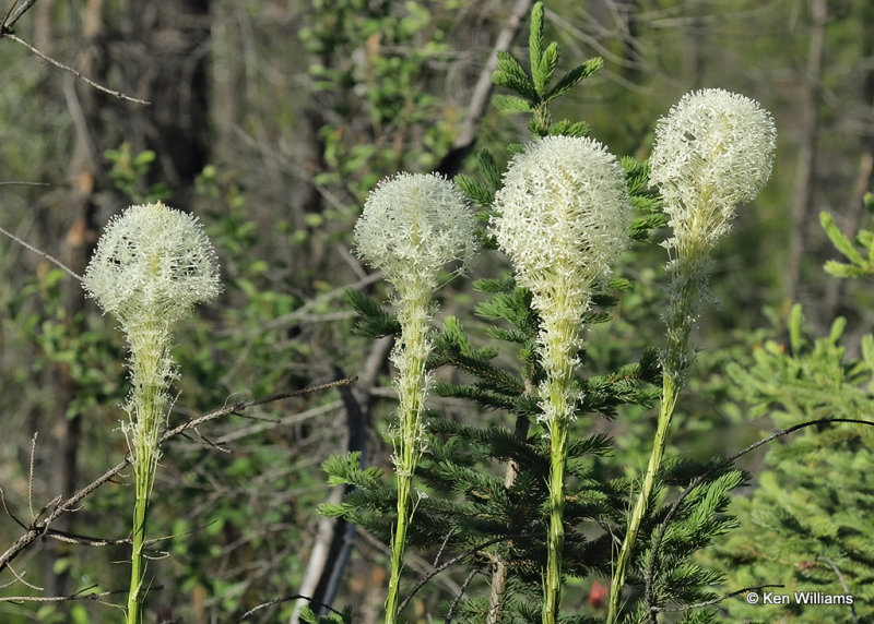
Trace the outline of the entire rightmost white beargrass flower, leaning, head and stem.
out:
<instances>
[{"instance_id":1,"label":"entire rightmost white beargrass flower, leaning, head and stem","mask_svg":"<svg viewBox=\"0 0 874 624\"><path fill-rule=\"evenodd\" d=\"M662 463L671 418L693 360L689 334L706 293L710 254L731 228L735 208L765 187L777 132L758 103L722 89L683 96L656 127L650 182L664 199L673 236L668 249L668 346L662 353L662 400L652 453L616 562L607 623L618 621L625 577Z\"/></svg>"}]
</instances>

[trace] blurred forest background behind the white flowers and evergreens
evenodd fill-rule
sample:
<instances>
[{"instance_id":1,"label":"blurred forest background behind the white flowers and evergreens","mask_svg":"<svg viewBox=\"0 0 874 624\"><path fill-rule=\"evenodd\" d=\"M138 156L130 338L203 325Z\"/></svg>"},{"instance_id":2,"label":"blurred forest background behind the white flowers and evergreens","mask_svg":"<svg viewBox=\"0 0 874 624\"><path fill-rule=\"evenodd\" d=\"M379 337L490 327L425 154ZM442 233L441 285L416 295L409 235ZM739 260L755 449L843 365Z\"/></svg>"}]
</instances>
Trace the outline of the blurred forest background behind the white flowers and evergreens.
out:
<instances>
[{"instance_id":1,"label":"blurred forest background behind the white flowers and evergreens","mask_svg":"<svg viewBox=\"0 0 874 624\"><path fill-rule=\"evenodd\" d=\"M377 347L351 336L353 313L341 297L350 286L377 299L385 289L350 253L352 224L385 175L473 172L472 159L459 164L451 157L464 155L456 151L463 147L465 124L474 124L477 146L488 147L499 166L506 145L525 140L518 116L489 108L471 118L469 109L498 34L524 4L39 0L16 24L19 36L151 105L96 92L0 39L0 226L81 273L99 229L125 206L161 197L198 214L218 250L225 293L177 335L182 375L172 422L238 397L358 374L376 359L376 383L363 387L358 400L374 405L366 411L368 464L385 468L390 449L377 432L393 405L387 349L380 359ZM525 14L530 3L523 8ZM854 232L864 216L862 196L872 189L874 5L554 0L546 9L546 36L563 50L559 70L593 56L605 61L586 88L556 107L555 117L584 119L616 154L646 158L656 120L694 88L742 92L775 115L775 173L755 205L739 212L733 235L719 250L713 305L699 322L701 352L672 441L697 458L732 453L773 424L784 425L783 411L749 411L748 404L765 399L747 396L749 380L736 371L759 374L763 353L781 355L793 303L803 305L813 337L827 335L835 319L845 317L842 332L832 336L849 358L861 357L861 337L871 326L870 285L835 280L822 271L835 251L817 215L827 211L842 231ZM511 49L524 46L518 36ZM636 245L616 271L635 285L614 322L589 331L595 372L661 345L659 240L657 235ZM503 266L491 254L474 276L494 276ZM475 329L483 323L472 320L477 297L469 284L454 283L442 293L439 315L454 314ZM73 279L0 237L7 432L0 487L8 511L25 524L55 496L70 494L123 456L123 358L113 321L84 301ZM461 424L487 418L447 401L435 404ZM155 555L169 555L152 564L162 587L149 601L154 621L229 621L302 587L320 526L315 509L331 496L319 465L346 447L346 413L332 392L271 404L259 416L282 423L232 417L201 432L226 443L232 454L193 440L167 445L151 512L151 532L163 538ZM581 433L614 435L616 465L630 476L639 473L653 419L652 410L627 406ZM859 443L842 442L853 448ZM863 460L870 467L870 458L847 459L852 466ZM744 461L755 476L763 454ZM781 483L779 470L767 475L756 494L761 504L769 504L768 492ZM126 480L110 483L55 528L123 539L129 497ZM11 544L21 531L12 517L0 517L0 544ZM2 592L121 589L126 556L123 545L37 542L3 572L3 580L12 583L14 569L43 591L13 583ZM427 571L425 560L411 563L411 576L423 565ZM413 601L410 617L441 617L439 605L462 580L451 571L436 577L433 589ZM385 581L385 547L359 535L335 604L352 604L362 622L377 622ZM743 575L737 581L747 583ZM590 581L569 589L568 601L601 614ZM288 602L250 621L288 621L293 611ZM119 617L94 601L2 603L0 614L10 623Z\"/></svg>"}]
</instances>

